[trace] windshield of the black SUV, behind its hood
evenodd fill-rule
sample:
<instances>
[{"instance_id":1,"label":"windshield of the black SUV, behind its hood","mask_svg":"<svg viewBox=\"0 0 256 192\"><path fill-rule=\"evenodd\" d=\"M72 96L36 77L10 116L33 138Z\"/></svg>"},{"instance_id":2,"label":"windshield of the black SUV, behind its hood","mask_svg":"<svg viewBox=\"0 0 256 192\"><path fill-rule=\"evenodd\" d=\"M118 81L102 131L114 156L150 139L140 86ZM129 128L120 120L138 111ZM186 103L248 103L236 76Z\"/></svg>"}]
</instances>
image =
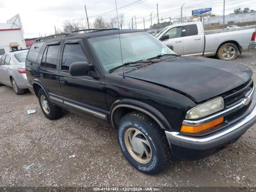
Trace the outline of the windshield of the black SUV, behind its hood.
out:
<instances>
[{"instance_id":1,"label":"windshield of the black SUV, behind its hood","mask_svg":"<svg viewBox=\"0 0 256 192\"><path fill-rule=\"evenodd\" d=\"M106 71L126 62L146 60L159 54L175 54L147 32L100 36L89 39L98 60ZM121 56L121 49L122 56Z\"/></svg>"}]
</instances>

